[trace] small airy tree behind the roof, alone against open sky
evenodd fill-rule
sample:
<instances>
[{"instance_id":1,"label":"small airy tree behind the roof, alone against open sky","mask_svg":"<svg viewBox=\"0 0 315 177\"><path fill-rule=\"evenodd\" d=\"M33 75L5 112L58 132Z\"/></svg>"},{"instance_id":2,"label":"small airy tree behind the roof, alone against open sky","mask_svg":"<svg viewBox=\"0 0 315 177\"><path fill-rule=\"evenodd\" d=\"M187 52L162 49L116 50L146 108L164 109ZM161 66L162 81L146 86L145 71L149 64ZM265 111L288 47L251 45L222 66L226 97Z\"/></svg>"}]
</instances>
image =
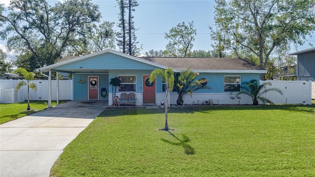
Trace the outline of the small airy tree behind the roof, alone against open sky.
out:
<instances>
[{"instance_id":1,"label":"small airy tree behind the roof, alone against open sky","mask_svg":"<svg viewBox=\"0 0 315 177\"><path fill-rule=\"evenodd\" d=\"M188 22L188 25L179 23L173 27L169 33L165 33L165 38L168 41L166 50L171 56L186 57L192 49L192 42L195 40L197 32L193 29L193 21Z\"/></svg>"}]
</instances>

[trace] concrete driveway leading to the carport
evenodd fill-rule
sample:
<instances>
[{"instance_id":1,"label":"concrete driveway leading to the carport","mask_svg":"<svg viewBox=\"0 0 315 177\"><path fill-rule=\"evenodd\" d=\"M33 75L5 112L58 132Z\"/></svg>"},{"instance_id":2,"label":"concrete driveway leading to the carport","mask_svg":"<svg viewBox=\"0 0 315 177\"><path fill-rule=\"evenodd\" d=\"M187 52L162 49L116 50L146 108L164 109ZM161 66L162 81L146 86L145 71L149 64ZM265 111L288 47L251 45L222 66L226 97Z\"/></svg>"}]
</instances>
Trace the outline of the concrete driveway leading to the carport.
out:
<instances>
[{"instance_id":1,"label":"concrete driveway leading to the carport","mask_svg":"<svg viewBox=\"0 0 315 177\"><path fill-rule=\"evenodd\" d=\"M0 177L49 177L64 147L106 105L102 101L71 101L1 124Z\"/></svg>"}]
</instances>

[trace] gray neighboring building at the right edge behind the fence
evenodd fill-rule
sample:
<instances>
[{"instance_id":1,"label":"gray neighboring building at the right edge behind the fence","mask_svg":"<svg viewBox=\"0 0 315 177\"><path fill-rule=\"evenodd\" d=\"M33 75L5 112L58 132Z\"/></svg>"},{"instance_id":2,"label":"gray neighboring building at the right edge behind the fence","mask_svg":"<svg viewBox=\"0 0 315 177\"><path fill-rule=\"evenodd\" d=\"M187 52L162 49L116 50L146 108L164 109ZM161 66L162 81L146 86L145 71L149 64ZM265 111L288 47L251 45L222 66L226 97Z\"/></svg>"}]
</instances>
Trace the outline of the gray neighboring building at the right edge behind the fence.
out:
<instances>
[{"instance_id":1,"label":"gray neighboring building at the right edge behind the fence","mask_svg":"<svg viewBox=\"0 0 315 177\"><path fill-rule=\"evenodd\" d=\"M297 56L297 79L315 81L315 47L289 55Z\"/></svg>"}]
</instances>

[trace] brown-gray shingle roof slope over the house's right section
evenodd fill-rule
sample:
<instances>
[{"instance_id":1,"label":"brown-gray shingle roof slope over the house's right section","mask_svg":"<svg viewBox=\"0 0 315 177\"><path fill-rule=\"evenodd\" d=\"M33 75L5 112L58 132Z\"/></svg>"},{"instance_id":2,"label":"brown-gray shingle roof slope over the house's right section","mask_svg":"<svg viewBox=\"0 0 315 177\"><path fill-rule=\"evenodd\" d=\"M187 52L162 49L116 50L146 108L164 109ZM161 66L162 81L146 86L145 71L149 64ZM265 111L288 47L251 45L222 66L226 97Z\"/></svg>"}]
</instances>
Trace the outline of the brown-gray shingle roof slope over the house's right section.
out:
<instances>
[{"instance_id":1,"label":"brown-gray shingle roof slope over the house's right section","mask_svg":"<svg viewBox=\"0 0 315 177\"><path fill-rule=\"evenodd\" d=\"M139 57L178 70L265 70L240 58Z\"/></svg>"}]
</instances>

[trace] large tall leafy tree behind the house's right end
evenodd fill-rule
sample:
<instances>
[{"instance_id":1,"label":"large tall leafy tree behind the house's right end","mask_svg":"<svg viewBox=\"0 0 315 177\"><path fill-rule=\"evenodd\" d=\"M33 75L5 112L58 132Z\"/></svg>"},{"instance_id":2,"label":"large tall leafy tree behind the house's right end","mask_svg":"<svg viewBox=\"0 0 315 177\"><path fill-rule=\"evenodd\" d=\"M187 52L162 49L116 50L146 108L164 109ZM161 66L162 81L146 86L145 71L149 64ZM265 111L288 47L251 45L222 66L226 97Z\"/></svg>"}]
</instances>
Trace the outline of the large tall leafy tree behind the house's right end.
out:
<instances>
[{"instance_id":1,"label":"large tall leafy tree behind the house's right end","mask_svg":"<svg viewBox=\"0 0 315 177\"><path fill-rule=\"evenodd\" d=\"M215 21L241 58L254 55L266 67L277 48L303 44L315 30L314 0L216 0ZM217 28L218 29L218 28ZM245 51L245 52L242 52Z\"/></svg>"}]
</instances>

